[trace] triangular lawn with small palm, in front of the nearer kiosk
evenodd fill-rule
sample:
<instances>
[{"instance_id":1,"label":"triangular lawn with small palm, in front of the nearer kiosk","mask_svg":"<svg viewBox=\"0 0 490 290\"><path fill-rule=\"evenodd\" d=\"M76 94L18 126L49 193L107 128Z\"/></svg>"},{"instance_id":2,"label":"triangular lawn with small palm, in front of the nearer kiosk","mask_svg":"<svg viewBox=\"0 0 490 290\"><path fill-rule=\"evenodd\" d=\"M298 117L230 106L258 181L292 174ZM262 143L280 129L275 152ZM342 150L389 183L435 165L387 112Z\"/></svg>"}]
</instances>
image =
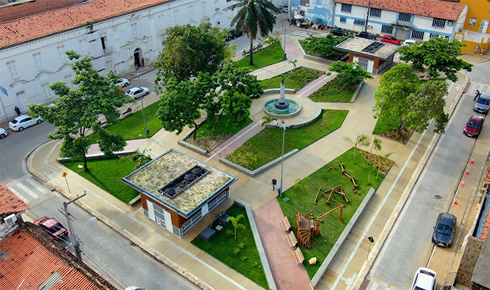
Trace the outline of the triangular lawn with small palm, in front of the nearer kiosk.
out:
<instances>
[{"instance_id":1,"label":"triangular lawn with small palm, in front of the nearer kiosk","mask_svg":"<svg viewBox=\"0 0 490 290\"><path fill-rule=\"evenodd\" d=\"M191 243L225 263L230 268L237 270L238 273L248 277L248 279L259 284L261 287L269 289L269 284L265 279L264 270L262 270L262 263L260 262L257 246L253 239L253 233L245 209L240 208L238 205L232 205L226 210L226 213L232 217L244 215L238 223L243 224L245 230L237 230L236 241L234 235L226 234L227 231L234 230L232 223L229 222L221 231L216 231L216 236L211 241L207 242L198 236ZM217 222L214 222L212 229L215 229L217 224ZM240 248L240 242L243 242L243 248ZM235 254L237 249L239 249L239 252Z\"/></svg>"}]
</instances>

